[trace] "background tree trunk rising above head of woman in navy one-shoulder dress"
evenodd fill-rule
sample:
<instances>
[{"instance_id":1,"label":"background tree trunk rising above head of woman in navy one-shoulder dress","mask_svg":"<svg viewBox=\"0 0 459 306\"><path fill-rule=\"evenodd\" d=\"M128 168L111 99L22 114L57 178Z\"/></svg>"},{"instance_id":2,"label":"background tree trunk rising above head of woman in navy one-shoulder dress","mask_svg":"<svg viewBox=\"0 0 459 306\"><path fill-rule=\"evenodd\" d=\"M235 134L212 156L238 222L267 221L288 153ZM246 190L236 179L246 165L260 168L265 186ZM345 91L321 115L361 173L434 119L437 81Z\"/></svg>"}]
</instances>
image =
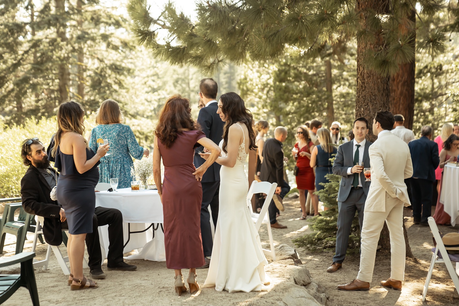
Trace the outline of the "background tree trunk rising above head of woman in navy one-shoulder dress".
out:
<instances>
[{"instance_id":1,"label":"background tree trunk rising above head of woman in navy one-shoulder dress","mask_svg":"<svg viewBox=\"0 0 459 306\"><path fill-rule=\"evenodd\" d=\"M65 16L65 0L55 0L56 1L56 15L58 16L58 21L56 24L56 34L58 40L60 40L62 45L65 45L67 42L67 24L65 21L62 21ZM63 52L65 54L65 51ZM70 87L70 73L68 71L68 63L65 58L61 58L61 63L59 64L59 97L61 101L68 99L68 90Z\"/></svg>"}]
</instances>

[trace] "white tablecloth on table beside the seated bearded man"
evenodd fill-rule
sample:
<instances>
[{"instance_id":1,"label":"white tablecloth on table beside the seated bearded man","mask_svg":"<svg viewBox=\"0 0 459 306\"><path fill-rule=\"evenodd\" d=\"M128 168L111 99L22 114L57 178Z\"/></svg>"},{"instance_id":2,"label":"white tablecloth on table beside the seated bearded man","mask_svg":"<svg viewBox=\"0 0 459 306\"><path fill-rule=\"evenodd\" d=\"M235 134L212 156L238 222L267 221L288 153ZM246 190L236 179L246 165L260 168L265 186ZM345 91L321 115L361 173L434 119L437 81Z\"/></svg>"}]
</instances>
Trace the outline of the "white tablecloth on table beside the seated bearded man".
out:
<instances>
[{"instance_id":1,"label":"white tablecloth on table beside the seated bearded man","mask_svg":"<svg viewBox=\"0 0 459 306\"><path fill-rule=\"evenodd\" d=\"M124 243L128 240L128 223L130 231L141 231L151 223L163 223L162 204L157 190L131 191L130 188L118 189L118 192L101 191L95 194L95 206L116 208L123 214ZM155 224L156 228L158 224ZM151 261L166 261L164 249L164 234L161 225L155 231L150 228L144 233L131 234L128 245L123 253L140 250L138 254L126 257L129 260L145 259ZM101 227L101 245L108 253L108 225Z\"/></svg>"}]
</instances>

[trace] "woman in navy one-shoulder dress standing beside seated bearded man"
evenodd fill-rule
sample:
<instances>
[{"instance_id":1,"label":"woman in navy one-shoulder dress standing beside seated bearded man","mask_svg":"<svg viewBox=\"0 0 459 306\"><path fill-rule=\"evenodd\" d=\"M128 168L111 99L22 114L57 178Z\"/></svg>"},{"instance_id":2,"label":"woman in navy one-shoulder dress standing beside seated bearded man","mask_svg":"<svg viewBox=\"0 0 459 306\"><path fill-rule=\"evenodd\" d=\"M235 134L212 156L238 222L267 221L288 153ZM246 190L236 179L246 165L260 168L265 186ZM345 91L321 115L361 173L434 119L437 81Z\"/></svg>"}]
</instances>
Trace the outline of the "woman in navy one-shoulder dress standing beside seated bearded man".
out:
<instances>
[{"instance_id":1,"label":"woman in navy one-shoulder dress standing beside seated bearded man","mask_svg":"<svg viewBox=\"0 0 459 306\"><path fill-rule=\"evenodd\" d=\"M94 281L83 276L84 239L92 233L95 210L95 185L99 180L101 157L109 145L88 148L84 139L84 109L73 101L62 103L57 109L57 132L51 155L61 173L57 187L57 200L62 204L68 224L67 253L70 263L71 290L97 288Z\"/></svg>"}]
</instances>

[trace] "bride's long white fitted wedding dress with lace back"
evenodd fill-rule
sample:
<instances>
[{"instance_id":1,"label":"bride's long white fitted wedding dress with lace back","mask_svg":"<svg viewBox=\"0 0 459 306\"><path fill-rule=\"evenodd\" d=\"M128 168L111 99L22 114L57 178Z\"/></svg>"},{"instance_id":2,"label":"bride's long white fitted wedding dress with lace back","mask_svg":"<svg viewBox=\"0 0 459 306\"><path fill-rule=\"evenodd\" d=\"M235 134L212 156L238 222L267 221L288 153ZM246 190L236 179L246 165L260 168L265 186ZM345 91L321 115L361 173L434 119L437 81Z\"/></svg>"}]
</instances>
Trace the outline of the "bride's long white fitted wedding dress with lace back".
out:
<instances>
[{"instance_id":1,"label":"bride's long white fitted wedding dress with lace back","mask_svg":"<svg viewBox=\"0 0 459 306\"><path fill-rule=\"evenodd\" d=\"M223 140L220 148L222 143ZM226 156L223 150L222 156ZM265 291L265 285L269 284L264 273L268 261L247 206L249 182L244 172L246 158L244 136L235 166L222 166L220 170L217 228L209 272L204 282L204 287L215 286L217 291Z\"/></svg>"}]
</instances>

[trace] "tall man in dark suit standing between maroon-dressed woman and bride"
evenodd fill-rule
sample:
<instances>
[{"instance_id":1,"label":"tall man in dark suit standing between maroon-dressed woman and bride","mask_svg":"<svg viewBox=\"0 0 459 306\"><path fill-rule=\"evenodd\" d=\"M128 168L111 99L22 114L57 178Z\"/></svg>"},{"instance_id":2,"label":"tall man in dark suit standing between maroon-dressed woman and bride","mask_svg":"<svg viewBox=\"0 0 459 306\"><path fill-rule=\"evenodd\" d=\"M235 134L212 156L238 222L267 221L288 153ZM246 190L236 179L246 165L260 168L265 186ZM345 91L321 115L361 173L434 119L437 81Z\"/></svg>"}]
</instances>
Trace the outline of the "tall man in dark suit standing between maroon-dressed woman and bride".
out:
<instances>
[{"instance_id":1,"label":"tall man in dark suit standing between maroon-dressed woman and bride","mask_svg":"<svg viewBox=\"0 0 459 306\"><path fill-rule=\"evenodd\" d=\"M205 107L199 111L197 122L201 125L202 132L214 143L219 144L223 137L223 121L217 114L217 91L218 85L212 78L203 78L199 84L199 97ZM195 167L201 166L205 160L199 155L204 150L202 146L195 150ZM207 168L202 176L202 206L201 206L201 237L202 249L206 264L199 268L207 268L212 256L212 228L210 225L209 206L212 211L213 225L217 226L218 217L218 191L220 189L220 165L214 162Z\"/></svg>"}]
</instances>

